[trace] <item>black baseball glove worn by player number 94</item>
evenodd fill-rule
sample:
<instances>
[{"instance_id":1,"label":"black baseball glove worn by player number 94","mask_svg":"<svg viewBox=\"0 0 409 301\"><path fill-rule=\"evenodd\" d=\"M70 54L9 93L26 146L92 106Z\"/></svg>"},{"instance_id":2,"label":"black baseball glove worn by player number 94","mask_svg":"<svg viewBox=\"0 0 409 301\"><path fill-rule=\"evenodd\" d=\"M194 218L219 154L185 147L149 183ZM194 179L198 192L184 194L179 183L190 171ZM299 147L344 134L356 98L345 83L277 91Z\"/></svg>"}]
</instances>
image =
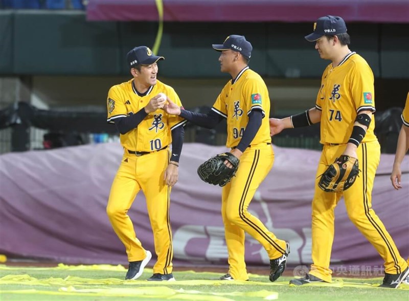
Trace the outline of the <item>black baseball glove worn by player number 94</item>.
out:
<instances>
[{"instance_id":1,"label":"black baseball glove worn by player number 94","mask_svg":"<svg viewBox=\"0 0 409 301\"><path fill-rule=\"evenodd\" d=\"M227 167L224 160L232 163L233 167ZM239 159L236 156L231 153L223 153L200 164L197 168L197 174L206 183L223 187L236 175L238 167Z\"/></svg>"}]
</instances>

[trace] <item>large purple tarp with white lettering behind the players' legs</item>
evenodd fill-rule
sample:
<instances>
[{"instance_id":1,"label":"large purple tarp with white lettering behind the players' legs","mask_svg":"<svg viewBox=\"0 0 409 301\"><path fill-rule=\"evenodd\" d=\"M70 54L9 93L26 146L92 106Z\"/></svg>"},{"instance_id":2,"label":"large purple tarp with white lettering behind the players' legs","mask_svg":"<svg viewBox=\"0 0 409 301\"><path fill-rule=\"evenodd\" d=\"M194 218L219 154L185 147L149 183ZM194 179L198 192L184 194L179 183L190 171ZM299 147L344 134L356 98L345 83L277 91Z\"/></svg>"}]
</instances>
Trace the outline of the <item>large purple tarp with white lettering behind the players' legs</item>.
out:
<instances>
[{"instance_id":1,"label":"large purple tarp with white lettering behind the players' legs","mask_svg":"<svg viewBox=\"0 0 409 301\"><path fill-rule=\"evenodd\" d=\"M249 210L291 245L289 263L311 261L311 199L320 152L274 146L276 161ZM224 152L222 146L186 143L179 181L171 193L175 264L225 264L227 251L220 216L221 188L201 182L197 166ZM105 212L109 189L122 158L118 143L10 153L0 156L0 253L64 263L125 264L124 246ZM373 207L402 256L409 255L409 175L393 189L393 155L377 170ZM409 171L406 157L402 171ZM129 215L144 247L153 237L142 192ZM381 266L380 256L349 221L343 202L335 210L333 264ZM246 239L248 265L267 264L264 249Z\"/></svg>"}]
</instances>

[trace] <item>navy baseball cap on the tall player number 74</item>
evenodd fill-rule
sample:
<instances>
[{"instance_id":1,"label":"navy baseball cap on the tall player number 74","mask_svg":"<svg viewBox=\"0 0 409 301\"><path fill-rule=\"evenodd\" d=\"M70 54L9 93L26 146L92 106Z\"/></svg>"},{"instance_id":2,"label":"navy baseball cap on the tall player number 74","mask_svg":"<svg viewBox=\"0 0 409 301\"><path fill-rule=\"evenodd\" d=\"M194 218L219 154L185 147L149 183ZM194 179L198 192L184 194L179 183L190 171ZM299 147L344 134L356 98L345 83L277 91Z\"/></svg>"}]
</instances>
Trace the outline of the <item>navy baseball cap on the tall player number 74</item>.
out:
<instances>
[{"instance_id":1,"label":"navy baseball cap on the tall player number 74","mask_svg":"<svg viewBox=\"0 0 409 301\"><path fill-rule=\"evenodd\" d=\"M337 35L346 32L347 26L342 17L325 16L316 20L314 23L314 32L305 36L305 39L313 42L324 35Z\"/></svg>"}]
</instances>

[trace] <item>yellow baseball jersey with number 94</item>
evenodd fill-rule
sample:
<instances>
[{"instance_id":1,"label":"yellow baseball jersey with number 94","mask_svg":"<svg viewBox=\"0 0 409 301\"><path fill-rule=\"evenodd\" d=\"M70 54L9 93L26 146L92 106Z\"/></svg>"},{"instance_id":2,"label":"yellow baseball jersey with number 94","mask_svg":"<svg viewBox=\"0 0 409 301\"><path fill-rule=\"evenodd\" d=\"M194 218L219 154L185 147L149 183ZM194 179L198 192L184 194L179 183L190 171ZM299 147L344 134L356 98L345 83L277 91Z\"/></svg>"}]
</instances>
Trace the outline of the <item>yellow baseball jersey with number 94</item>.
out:
<instances>
[{"instance_id":1,"label":"yellow baseball jersey with number 94","mask_svg":"<svg viewBox=\"0 0 409 301\"><path fill-rule=\"evenodd\" d=\"M263 119L250 145L271 142L268 118L264 118L270 114L268 90L261 76L248 67L226 83L212 110L227 119L227 147L239 144L252 110L261 110Z\"/></svg>"}]
</instances>

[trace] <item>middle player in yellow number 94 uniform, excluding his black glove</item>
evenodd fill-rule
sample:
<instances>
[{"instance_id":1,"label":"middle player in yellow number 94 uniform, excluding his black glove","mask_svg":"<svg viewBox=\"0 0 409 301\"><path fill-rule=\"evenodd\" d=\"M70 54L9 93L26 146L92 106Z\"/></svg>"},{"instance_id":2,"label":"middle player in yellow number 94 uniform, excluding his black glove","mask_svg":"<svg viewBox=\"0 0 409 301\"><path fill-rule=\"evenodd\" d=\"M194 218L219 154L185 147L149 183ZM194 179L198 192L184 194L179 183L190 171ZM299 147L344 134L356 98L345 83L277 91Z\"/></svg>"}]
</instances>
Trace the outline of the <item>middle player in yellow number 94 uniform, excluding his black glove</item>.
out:
<instances>
[{"instance_id":1,"label":"middle player in yellow number 94 uniform, excluding his black glove","mask_svg":"<svg viewBox=\"0 0 409 301\"><path fill-rule=\"evenodd\" d=\"M213 128L227 120L226 146L240 159L234 177L222 188L221 215L229 253L229 272L220 280L246 281L244 233L263 245L270 258L270 281L276 281L286 267L289 244L276 238L264 224L247 211L254 193L274 162L268 119L270 99L267 87L256 72L248 68L252 45L244 36L230 35L222 45L213 45L220 52L221 72L232 76L207 114L181 109L168 98L164 110L197 125ZM228 167L232 164L225 161Z\"/></svg>"}]
</instances>

